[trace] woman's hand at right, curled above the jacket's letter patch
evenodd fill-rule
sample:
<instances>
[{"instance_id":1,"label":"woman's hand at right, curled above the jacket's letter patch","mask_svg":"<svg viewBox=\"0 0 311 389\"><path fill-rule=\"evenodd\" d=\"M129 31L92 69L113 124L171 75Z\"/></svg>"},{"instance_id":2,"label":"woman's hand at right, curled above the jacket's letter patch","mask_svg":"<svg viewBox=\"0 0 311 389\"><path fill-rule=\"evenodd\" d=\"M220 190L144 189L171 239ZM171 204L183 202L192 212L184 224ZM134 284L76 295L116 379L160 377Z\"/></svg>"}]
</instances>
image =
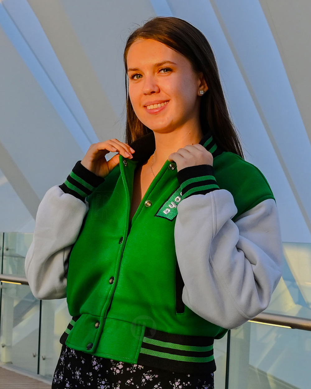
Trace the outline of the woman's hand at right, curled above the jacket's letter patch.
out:
<instances>
[{"instance_id":1,"label":"woman's hand at right, curled above the jacket's letter patch","mask_svg":"<svg viewBox=\"0 0 311 389\"><path fill-rule=\"evenodd\" d=\"M194 145L186 145L176 152L172 152L168 156L169 161L175 161L177 171L187 168L188 166L196 165L211 165L213 166L213 156L206 148L199 143Z\"/></svg>"}]
</instances>

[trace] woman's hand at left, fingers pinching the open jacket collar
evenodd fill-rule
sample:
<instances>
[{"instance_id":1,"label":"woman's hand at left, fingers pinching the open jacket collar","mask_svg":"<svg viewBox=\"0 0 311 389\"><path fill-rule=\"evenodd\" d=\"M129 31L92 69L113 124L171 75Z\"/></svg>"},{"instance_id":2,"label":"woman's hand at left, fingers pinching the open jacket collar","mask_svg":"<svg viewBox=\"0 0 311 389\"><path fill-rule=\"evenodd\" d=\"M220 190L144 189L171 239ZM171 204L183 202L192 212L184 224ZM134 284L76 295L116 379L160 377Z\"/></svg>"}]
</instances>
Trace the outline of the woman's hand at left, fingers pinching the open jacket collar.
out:
<instances>
[{"instance_id":1,"label":"woman's hand at left, fingers pinching the open jacket collar","mask_svg":"<svg viewBox=\"0 0 311 389\"><path fill-rule=\"evenodd\" d=\"M105 155L108 152L118 151L109 161ZM120 142L117 139L105 140L105 142L94 143L88 149L86 155L81 161L81 165L90 170L90 172L105 178L112 169L118 165L120 154L124 158L133 158L131 153L135 152L127 143Z\"/></svg>"}]
</instances>

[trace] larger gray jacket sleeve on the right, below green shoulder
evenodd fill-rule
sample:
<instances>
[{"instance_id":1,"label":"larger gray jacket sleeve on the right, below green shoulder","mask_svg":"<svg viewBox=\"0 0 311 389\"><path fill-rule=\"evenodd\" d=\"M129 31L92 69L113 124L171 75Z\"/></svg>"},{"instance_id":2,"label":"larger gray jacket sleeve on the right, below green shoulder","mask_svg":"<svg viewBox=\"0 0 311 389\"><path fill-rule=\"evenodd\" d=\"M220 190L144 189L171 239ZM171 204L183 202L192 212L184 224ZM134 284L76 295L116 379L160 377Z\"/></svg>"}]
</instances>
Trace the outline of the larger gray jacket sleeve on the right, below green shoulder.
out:
<instances>
[{"instance_id":1,"label":"larger gray jacket sleeve on the right, below green shoulder","mask_svg":"<svg viewBox=\"0 0 311 389\"><path fill-rule=\"evenodd\" d=\"M282 272L276 203L264 200L235 221L225 189L178 204L175 247L182 300L204 319L236 328L267 308Z\"/></svg>"}]
</instances>

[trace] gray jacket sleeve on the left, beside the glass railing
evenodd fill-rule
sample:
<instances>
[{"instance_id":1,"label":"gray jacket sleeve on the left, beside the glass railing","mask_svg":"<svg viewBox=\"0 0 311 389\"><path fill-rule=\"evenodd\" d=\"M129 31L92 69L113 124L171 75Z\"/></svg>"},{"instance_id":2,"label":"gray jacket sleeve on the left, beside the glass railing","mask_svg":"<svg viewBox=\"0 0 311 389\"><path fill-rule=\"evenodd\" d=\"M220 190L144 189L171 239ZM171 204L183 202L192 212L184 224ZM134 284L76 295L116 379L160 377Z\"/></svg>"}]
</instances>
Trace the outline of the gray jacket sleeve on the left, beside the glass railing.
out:
<instances>
[{"instance_id":1,"label":"gray jacket sleeve on the left, beside the glass railing","mask_svg":"<svg viewBox=\"0 0 311 389\"><path fill-rule=\"evenodd\" d=\"M38 299L66 297L66 259L77 240L88 203L64 193L47 191L38 207L33 240L25 258L25 272Z\"/></svg>"}]
</instances>

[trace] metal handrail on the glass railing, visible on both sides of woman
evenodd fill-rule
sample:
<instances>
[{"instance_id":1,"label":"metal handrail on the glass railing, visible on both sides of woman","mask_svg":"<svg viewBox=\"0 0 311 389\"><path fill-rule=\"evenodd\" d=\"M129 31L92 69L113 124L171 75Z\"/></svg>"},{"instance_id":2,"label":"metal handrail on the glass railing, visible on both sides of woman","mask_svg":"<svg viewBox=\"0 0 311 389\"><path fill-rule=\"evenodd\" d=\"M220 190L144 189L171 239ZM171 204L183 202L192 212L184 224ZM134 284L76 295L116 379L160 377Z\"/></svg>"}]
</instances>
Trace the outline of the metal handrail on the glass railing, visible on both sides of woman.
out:
<instances>
[{"instance_id":1,"label":"metal handrail on the glass railing, visible on both sides of woman","mask_svg":"<svg viewBox=\"0 0 311 389\"><path fill-rule=\"evenodd\" d=\"M3 281L22 285L29 285L25 277L18 277L16 275L0 274L0 282ZM261 314L254 317L251 322L270 324L274 326L285 326L293 329L303 329L304 331L311 331L311 319L305 319L304 317L269 314L266 312L262 312Z\"/></svg>"}]
</instances>

